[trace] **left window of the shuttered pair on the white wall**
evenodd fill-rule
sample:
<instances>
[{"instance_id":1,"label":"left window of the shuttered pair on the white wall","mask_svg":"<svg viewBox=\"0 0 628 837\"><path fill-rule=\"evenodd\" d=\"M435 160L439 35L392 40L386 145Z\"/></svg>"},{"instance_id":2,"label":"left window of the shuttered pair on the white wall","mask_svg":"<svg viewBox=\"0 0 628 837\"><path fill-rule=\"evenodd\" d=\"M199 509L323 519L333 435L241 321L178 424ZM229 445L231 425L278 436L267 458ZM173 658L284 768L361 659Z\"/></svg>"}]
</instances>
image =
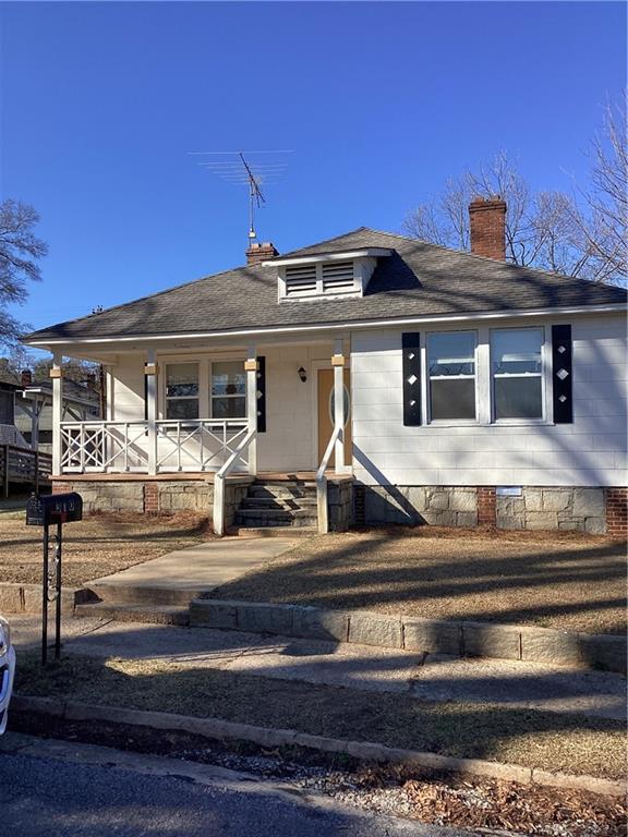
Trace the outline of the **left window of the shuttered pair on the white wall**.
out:
<instances>
[{"instance_id":1,"label":"left window of the shuttered pair on the white wall","mask_svg":"<svg viewBox=\"0 0 628 837\"><path fill-rule=\"evenodd\" d=\"M430 417L475 421L475 331L427 336Z\"/></svg>"}]
</instances>

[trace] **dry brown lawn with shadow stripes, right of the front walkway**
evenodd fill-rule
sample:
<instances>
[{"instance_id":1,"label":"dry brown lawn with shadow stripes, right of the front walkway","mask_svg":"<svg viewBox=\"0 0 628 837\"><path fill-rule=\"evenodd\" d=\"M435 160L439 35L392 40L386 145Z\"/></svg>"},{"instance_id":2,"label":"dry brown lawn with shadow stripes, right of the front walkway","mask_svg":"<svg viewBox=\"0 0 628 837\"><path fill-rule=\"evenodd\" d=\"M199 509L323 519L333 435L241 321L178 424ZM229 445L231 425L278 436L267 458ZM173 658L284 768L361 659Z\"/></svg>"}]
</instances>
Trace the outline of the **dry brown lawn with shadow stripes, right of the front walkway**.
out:
<instances>
[{"instance_id":1,"label":"dry brown lawn with shadow stripes, right of the front walkway","mask_svg":"<svg viewBox=\"0 0 628 837\"><path fill-rule=\"evenodd\" d=\"M208 596L624 633L625 555L572 532L372 529L303 541Z\"/></svg>"}]
</instances>

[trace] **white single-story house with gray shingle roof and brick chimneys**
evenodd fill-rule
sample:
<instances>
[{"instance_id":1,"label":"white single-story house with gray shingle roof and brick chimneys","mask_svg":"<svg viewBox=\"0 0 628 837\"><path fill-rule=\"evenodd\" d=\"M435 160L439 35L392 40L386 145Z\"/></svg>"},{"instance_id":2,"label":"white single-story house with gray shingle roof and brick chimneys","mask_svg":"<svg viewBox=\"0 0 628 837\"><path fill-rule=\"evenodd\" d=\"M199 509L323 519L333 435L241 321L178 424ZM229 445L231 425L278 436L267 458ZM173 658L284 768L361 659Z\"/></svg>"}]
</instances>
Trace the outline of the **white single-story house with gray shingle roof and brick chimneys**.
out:
<instances>
[{"instance_id":1,"label":"white single-story house with gray shingle roof and brick chimneys","mask_svg":"<svg viewBox=\"0 0 628 837\"><path fill-rule=\"evenodd\" d=\"M87 508L240 524L626 530L626 291L359 228L61 323L53 473ZM64 355L107 416L63 421Z\"/></svg>"}]
</instances>

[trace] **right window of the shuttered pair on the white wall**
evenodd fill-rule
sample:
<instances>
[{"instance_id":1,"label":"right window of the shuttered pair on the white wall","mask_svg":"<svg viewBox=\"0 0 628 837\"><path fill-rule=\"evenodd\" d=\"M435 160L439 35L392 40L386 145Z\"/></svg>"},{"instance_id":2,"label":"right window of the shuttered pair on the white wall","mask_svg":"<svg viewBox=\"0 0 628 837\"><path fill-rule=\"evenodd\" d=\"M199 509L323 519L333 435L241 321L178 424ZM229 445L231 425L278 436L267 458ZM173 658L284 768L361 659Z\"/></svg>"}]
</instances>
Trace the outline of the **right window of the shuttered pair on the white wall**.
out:
<instances>
[{"instance_id":1,"label":"right window of the shuttered pair on the white wall","mask_svg":"<svg viewBox=\"0 0 628 837\"><path fill-rule=\"evenodd\" d=\"M494 416L543 417L542 328L504 328L491 335Z\"/></svg>"}]
</instances>

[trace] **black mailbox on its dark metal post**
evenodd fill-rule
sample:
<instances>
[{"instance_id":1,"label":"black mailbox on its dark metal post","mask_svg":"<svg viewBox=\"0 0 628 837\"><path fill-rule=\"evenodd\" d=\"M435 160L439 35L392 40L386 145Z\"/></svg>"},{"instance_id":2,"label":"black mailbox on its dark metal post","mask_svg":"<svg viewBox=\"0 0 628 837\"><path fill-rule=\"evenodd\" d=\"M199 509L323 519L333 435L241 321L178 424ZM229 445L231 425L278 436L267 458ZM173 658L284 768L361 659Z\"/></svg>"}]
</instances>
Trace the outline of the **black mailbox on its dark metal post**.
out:
<instances>
[{"instance_id":1,"label":"black mailbox on its dark metal post","mask_svg":"<svg viewBox=\"0 0 628 837\"><path fill-rule=\"evenodd\" d=\"M41 665L48 659L48 604L55 602L55 659L61 656L61 557L63 523L83 520L83 498L71 492L39 497L26 504L26 525L44 527L44 579L41 590ZM57 525L55 558L50 567L50 525Z\"/></svg>"}]
</instances>

